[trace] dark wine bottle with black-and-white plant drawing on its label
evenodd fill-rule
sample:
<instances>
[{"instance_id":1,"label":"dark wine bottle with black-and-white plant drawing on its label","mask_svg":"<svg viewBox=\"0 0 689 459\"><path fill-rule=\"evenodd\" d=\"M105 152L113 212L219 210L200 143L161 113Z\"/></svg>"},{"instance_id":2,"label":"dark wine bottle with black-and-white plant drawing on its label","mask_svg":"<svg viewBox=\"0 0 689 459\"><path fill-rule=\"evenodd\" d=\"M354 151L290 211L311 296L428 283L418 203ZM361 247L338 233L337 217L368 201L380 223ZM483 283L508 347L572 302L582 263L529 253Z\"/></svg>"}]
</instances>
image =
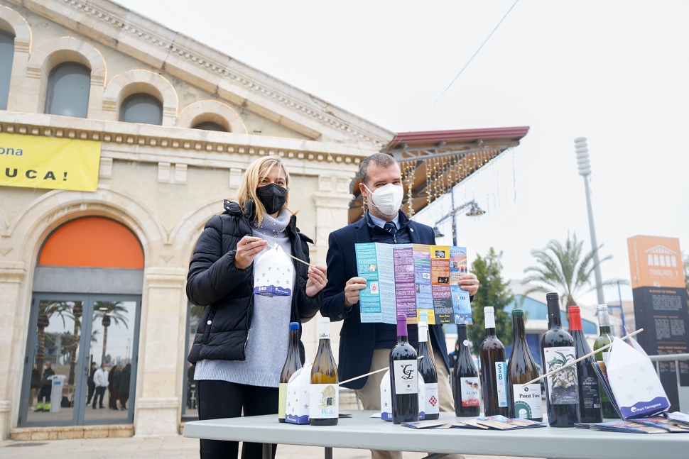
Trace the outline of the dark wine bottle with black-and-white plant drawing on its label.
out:
<instances>
[{"instance_id":1,"label":"dark wine bottle with black-and-white plant drawing on its label","mask_svg":"<svg viewBox=\"0 0 689 459\"><path fill-rule=\"evenodd\" d=\"M557 370L575 360L574 338L562 327L560 295L546 294L550 328L541 337L543 371ZM573 427L579 423L579 385L577 365L570 365L546 377L548 424L551 427Z\"/></svg>"}]
</instances>

